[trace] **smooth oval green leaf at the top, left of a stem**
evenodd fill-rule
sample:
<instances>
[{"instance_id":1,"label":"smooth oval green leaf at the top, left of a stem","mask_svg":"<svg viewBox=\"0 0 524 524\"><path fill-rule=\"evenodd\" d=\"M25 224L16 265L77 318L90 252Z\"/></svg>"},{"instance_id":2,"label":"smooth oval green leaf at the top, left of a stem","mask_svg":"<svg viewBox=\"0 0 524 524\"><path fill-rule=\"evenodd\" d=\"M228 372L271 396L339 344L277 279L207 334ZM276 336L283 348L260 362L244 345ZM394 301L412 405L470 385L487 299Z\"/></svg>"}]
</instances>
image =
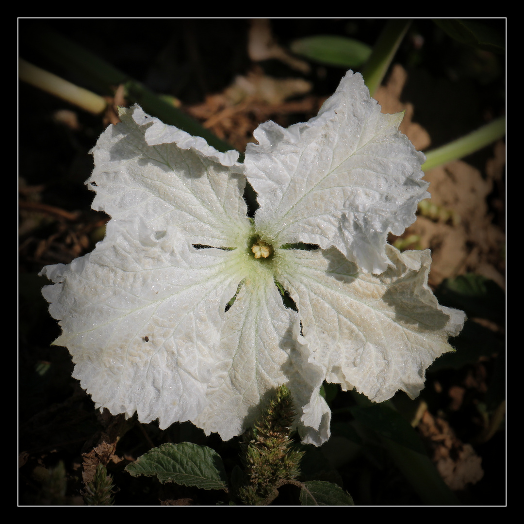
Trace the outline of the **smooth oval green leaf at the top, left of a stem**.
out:
<instances>
[{"instance_id":1,"label":"smooth oval green leaf at the top, left of a stem","mask_svg":"<svg viewBox=\"0 0 524 524\"><path fill-rule=\"evenodd\" d=\"M291 42L291 50L303 57L344 68L360 67L371 54L371 48L358 40L343 36L311 36Z\"/></svg>"}]
</instances>

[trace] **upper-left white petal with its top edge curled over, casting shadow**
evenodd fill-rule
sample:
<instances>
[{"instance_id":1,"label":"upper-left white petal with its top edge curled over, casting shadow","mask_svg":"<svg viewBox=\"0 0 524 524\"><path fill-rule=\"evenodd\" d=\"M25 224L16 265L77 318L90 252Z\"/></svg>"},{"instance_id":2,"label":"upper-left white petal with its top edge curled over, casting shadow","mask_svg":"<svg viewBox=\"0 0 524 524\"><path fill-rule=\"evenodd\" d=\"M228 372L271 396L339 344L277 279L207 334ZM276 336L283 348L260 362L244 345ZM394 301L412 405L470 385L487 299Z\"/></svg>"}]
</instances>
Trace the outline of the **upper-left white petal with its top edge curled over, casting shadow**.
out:
<instances>
[{"instance_id":1,"label":"upper-left white petal with its top edge curled over, casting shadow","mask_svg":"<svg viewBox=\"0 0 524 524\"><path fill-rule=\"evenodd\" d=\"M121 224L140 217L155 231L177 227L192 244L236 246L249 228L236 151L216 151L136 105L120 116L122 123L108 127L92 150L93 209Z\"/></svg>"}]
</instances>

